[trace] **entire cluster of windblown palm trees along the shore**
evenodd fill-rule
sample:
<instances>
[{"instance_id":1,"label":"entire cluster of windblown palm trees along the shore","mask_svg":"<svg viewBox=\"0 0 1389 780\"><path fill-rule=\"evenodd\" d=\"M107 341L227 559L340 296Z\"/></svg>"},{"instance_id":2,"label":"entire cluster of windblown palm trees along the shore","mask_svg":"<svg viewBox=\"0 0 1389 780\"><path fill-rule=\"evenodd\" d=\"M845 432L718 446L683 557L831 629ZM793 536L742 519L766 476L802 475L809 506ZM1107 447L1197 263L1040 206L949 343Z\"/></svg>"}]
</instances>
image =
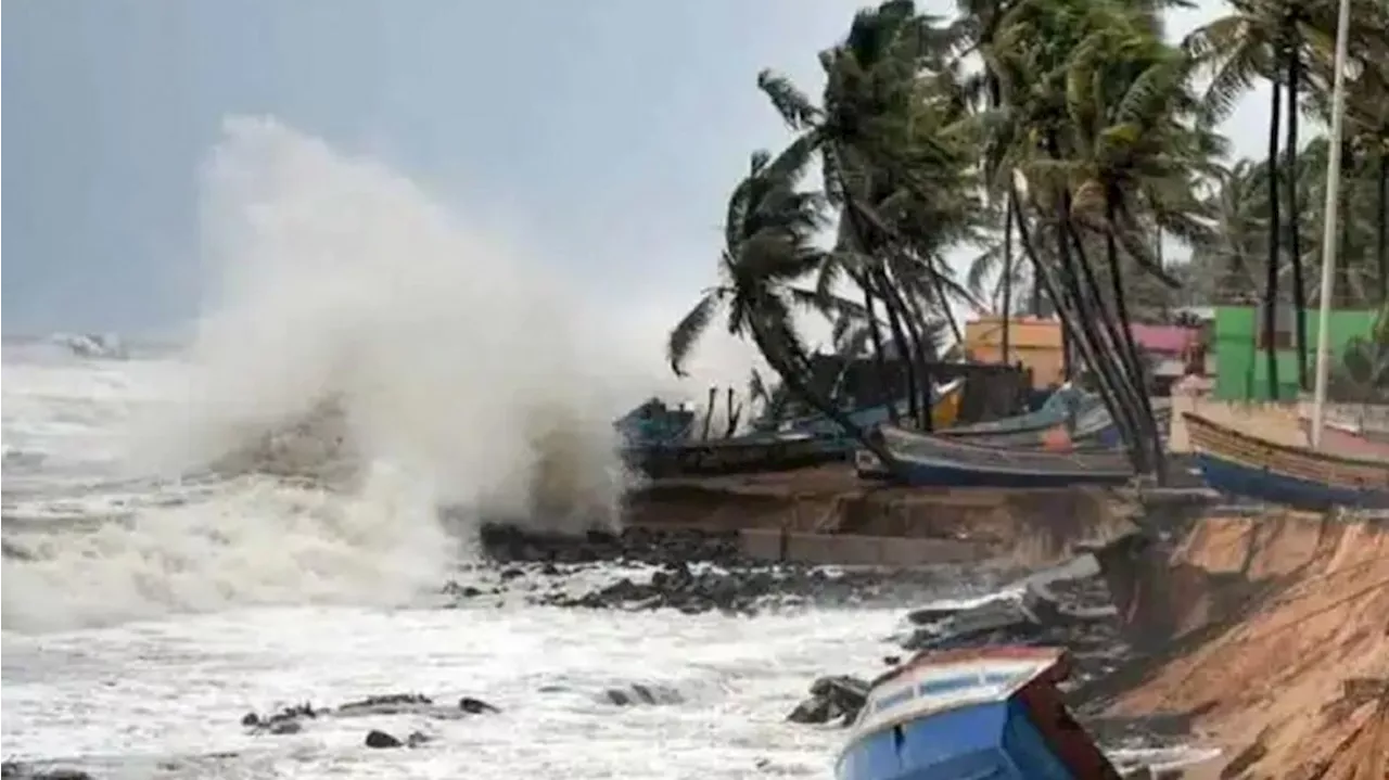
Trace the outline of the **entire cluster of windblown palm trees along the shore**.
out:
<instances>
[{"instance_id":1,"label":"entire cluster of windblown palm trees along the shore","mask_svg":"<svg viewBox=\"0 0 1389 780\"><path fill-rule=\"evenodd\" d=\"M1020 310L1054 315L1068 372L1083 369L1106 400L1135 469L1161 479L1126 322L1258 290L1265 334L1290 300L1306 354L1326 143L1300 144L1299 118L1326 117L1336 19L1329 0L1228 0L1226 15L1174 43L1164 14L1179 1L958 0L942 21L888 0L821 53L817 99L763 72L757 83L795 136L778 154L754 153L735 187L721 282L671 332L672 369L722 315L789 391L895 468L808 386L799 311L828 316L836 340L883 364L900 361L906 414L922 427L939 340L958 339L951 304L995 308L1004 322ZM1389 12L1353 0L1353 28L1342 189L1354 194L1339 294L1379 304ZM1226 164L1218 126L1258 82L1274 86L1268 158ZM1164 246L1188 260L1165 260ZM976 260L958 280L947 257L963 250ZM1306 357L1300 369L1306 382Z\"/></svg>"}]
</instances>

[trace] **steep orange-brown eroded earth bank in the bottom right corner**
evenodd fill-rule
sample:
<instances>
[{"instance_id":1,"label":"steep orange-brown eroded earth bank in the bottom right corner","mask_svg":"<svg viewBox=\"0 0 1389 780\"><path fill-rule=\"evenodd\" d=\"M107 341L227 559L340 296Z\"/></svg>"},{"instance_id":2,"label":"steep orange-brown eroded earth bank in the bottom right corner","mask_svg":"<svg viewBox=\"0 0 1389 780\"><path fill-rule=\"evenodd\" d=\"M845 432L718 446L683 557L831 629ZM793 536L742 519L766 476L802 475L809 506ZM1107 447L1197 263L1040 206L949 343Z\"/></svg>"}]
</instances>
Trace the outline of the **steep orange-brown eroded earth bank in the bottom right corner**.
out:
<instances>
[{"instance_id":1,"label":"steep orange-brown eroded earth bank in the bottom right corner","mask_svg":"<svg viewBox=\"0 0 1389 780\"><path fill-rule=\"evenodd\" d=\"M1100 558L1150 652L1092 691L1111 715L1190 716L1221 777L1386 776L1389 525L1231 514Z\"/></svg>"}]
</instances>

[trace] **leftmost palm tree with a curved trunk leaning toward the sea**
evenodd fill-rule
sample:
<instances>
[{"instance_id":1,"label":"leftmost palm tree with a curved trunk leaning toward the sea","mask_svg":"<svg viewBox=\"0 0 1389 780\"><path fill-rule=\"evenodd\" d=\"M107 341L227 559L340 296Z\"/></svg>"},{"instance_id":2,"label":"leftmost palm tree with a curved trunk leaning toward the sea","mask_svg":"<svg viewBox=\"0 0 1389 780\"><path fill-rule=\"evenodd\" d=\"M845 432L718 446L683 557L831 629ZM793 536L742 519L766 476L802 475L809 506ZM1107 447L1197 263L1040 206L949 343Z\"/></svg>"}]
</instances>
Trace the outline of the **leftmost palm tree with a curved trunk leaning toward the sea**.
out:
<instances>
[{"instance_id":1,"label":"leftmost palm tree with a curved trunk leaning toward the sea","mask_svg":"<svg viewBox=\"0 0 1389 780\"><path fill-rule=\"evenodd\" d=\"M751 155L747 176L728 201L721 282L706 290L671 330L667 358L671 369L683 376L685 361L722 308L728 333L750 339L788 391L896 469L897 461L810 383L811 361L793 314L821 298L792 285L824 264L825 255L814 243L825 222L824 198L797 189L808 161L803 146L775 160L765 151Z\"/></svg>"}]
</instances>

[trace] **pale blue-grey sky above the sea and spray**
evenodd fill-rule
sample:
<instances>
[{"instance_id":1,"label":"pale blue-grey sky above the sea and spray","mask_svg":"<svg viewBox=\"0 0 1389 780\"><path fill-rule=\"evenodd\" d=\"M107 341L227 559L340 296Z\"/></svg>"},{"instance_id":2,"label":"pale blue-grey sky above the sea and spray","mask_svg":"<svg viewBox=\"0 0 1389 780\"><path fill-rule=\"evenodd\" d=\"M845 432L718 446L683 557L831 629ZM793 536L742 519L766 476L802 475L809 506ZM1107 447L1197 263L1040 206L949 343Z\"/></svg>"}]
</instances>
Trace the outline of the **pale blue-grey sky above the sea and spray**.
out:
<instances>
[{"instance_id":1,"label":"pale blue-grey sky above the sea and spray","mask_svg":"<svg viewBox=\"0 0 1389 780\"><path fill-rule=\"evenodd\" d=\"M747 154L785 137L757 71L817 87L815 53L861 4L0 3L0 329L157 330L196 314L199 165L233 114L496 215L594 296L682 308L711 279ZM1246 154L1265 97L1228 128Z\"/></svg>"}]
</instances>

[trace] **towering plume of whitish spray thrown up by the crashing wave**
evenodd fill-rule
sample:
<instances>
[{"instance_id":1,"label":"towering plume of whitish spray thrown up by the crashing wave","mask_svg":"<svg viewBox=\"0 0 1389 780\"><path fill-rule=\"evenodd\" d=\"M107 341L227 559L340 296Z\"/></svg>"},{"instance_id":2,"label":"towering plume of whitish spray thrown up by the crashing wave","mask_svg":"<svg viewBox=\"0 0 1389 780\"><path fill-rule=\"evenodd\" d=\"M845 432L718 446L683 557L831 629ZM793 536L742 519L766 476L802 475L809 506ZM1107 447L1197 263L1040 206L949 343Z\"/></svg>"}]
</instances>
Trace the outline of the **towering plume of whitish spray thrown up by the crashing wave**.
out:
<instances>
[{"instance_id":1,"label":"towering plume of whitish spray thrown up by the crashing wave","mask_svg":"<svg viewBox=\"0 0 1389 780\"><path fill-rule=\"evenodd\" d=\"M553 272L385 167L272 121L229 122L206 176L193 452L221 455L331 401L332 437L440 502L529 516L544 466L583 491L571 504L588 511L560 516L613 515L614 361ZM556 425L558 437L542 430ZM565 441L563 466L544 440Z\"/></svg>"}]
</instances>

